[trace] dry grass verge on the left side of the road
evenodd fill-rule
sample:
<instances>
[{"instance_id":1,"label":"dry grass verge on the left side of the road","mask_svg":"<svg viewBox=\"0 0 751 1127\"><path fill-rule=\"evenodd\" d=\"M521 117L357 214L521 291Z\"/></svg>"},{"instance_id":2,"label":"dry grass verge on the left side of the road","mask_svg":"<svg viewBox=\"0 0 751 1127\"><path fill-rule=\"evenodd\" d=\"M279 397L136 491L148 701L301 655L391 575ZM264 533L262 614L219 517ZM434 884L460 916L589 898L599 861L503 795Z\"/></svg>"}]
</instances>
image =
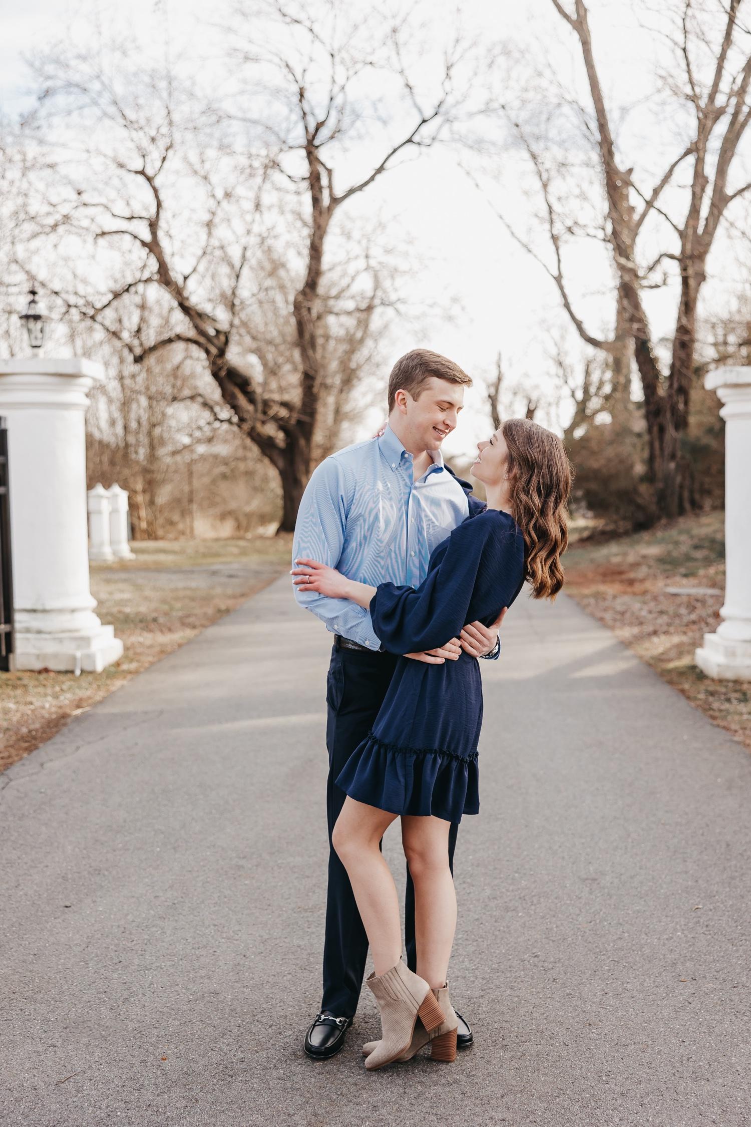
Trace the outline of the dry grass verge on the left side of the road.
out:
<instances>
[{"instance_id":1,"label":"dry grass verge on the left side of the road","mask_svg":"<svg viewBox=\"0 0 751 1127\"><path fill-rule=\"evenodd\" d=\"M79 677L0 674L0 771L281 575L292 536L158 541L134 550L134 560L91 565L96 613L125 646L119 662Z\"/></svg>"}]
</instances>

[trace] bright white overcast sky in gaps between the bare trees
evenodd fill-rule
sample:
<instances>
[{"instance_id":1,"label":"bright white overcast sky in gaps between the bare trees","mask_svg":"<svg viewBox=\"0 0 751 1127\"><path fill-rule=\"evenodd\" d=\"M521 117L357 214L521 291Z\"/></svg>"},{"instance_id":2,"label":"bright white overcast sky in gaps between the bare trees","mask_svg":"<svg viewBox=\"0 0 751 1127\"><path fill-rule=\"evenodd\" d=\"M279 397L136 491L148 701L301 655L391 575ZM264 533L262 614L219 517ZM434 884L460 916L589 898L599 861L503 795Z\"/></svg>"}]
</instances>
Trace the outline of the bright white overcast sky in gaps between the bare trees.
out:
<instances>
[{"instance_id":1,"label":"bright white overcast sky in gaps between the bare trees","mask_svg":"<svg viewBox=\"0 0 751 1127\"><path fill-rule=\"evenodd\" d=\"M358 0L359 2L359 0ZM352 7L356 7L354 3ZM370 7L369 5L367 6ZM433 0L426 10L432 14L436 34L450 10L456 7ZM468 28L489 38L512 42L516 50L542 52L551 57L571 89L581 83L581 60L575 51L573 33L555 14L549 0L465 0L462 17ZM649 12L644 5L641 12ZM231 3L215 0L212 14L216 19L226 15L231 28ZM628 0L592 0L591 23L600 71L610 105L637 106L653 90L655 72L664 60L659 36L645 34L638 27L634 5ZM127 5L100 0L37 0L21 6L0 0L2 38L0 41L0 96L7 113L16 114L28 104L29 76L23 53L36 44L62 37L69 29L79 45L97 20L107 30L135 34L144 51L189 56L205 50L212 41L215 57L221 60L226 33L202 27L199 12L206 11L205 0L128 0ZM95 15L96 14L96 15ZM659 24L659 16L654 17ZM200 34L198 34L200 33ZM659 124L659 123L658 123ZM627 124L625 128L627 130ZM655 128L650 134L645 119L640 119L640 158L653 157L655 169L667 162L665 149L670 133ZM528 206L515 190L513 160L501 170L497 185L488 184L494 194L493 205L501 207L512 223L521 229ZM483 195L462 171L456 157L446 152L428 152L419 160L382 177L360 199L363 206L377 206L399 229L409 232L415 258L413 291L415 298L436 314L426 316L415 337L413 327L395 325L388 340L387 361L382 373L384 384L391 363L409 348L423 345L456 360L476 381L466 397L467 410L457 433L446 444L449 454L468 453L474 442L485 437L489 419L483 406L483 380L494 366L500 349L508 380L542 393L549 401L556 398L553 365L548 357L551 336L566 332L573 337L562 314L553 283L509 237ZM611 301L604 294L602 278L591 274L591 260L582 254L570 264L572 289L594 331L607 331ZM723 272L718 272L723 273ZM715 301L723 286L732 279L714 279ZM709 292L712 292L712 283ZM445 317L445 309L454 312ZM673 300L669 294L654 303L658 332L668 331ZM565 408L563 409L565 415ZM557 412L540 421L555 426ZM372 431L374 418L363 420L364 437Z\"/></svg>"}]
</instances>

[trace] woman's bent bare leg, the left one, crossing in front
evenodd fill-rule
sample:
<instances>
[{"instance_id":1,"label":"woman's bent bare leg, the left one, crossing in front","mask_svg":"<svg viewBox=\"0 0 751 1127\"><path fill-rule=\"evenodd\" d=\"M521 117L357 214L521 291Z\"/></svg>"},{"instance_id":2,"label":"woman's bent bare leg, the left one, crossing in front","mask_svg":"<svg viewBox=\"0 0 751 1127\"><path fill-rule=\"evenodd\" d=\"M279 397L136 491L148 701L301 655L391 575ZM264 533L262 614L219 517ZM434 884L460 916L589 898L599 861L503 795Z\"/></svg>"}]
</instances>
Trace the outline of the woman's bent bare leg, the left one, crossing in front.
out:
<instances>
[{"instance_id":1,"label":"woman's bent bare leg, the left one, crossing in front","mask_svg":"<svg viewBox=\"0 0 751 1127\"><path fill-rule=\"evenodd\" d=\"M402 957L396 887L378 849L378 842L396 817L348 795L331 835L347 869L378 976L395 967Z\"/></svg>"}]
</instances>

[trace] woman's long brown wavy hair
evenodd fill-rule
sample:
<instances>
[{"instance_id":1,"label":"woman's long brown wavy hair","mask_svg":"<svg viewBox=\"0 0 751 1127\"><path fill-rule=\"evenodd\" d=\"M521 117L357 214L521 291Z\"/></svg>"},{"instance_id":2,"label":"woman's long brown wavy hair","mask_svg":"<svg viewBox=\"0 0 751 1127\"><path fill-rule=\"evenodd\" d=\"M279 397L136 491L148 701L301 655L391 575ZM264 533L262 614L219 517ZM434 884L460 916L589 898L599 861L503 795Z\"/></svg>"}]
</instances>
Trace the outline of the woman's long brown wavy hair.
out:
<instances>
[{"instance_id":1,"label":"woman's long brown wavy hair","mask_svg":"<svg viewBox=\"0 0 751 1127\"><path fill-rule=\"evenodd\" d=\"M573 469L558 436L531 419L507 419L501 433L509 451L511 515L525 538L526 578L534 598L555 598L563 586Z\"/></svg>"}]
</instances>

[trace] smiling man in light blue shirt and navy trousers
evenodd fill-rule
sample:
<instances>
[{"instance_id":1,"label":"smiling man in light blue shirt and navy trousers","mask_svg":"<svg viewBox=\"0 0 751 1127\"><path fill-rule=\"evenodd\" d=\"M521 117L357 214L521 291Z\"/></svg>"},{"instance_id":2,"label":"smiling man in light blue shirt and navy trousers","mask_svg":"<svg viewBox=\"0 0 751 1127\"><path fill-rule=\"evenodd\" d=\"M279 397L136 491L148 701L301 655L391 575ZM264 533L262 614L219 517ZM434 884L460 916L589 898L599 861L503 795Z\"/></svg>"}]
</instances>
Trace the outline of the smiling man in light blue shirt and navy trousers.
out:
<instances>
[{"instance_id":1,"label":"smiling man in light blue shirt and navy trousers","mask_svg":"<svg viewBox=\"0 0 751 1127\"><path fill-rule=\"evenodd\" d=\"M297 514L293 564L301 557L320 560L373 586L391 582L418 587L422 583L436 544L466 516L485 507L471 496L472 487L445 465L440 453L471 383L457 364L424 348L396 362L388 380L388 424L383 434L331 454L311 476ZM367 737L397 658L382 648L365 607L306 593L299 586L295 597L334 635L327 677L331 846L346 797L333 780ZM475 657L497 657L502 616L490 630L474 622L439 649L405 656L439 663L456 660L464 649ZM449 833L452 873L457 828L452 825ZM408 965L414 970L414 886L409 869L404 930ZM305 1036L309 1056L328 1059L342 1048L357 1010L367 949L347 871L330 849L323 1000ZM472 1030L459 1017L457 1045L466 1047L472 1040Z\"/></svg>"}]
</instances>

